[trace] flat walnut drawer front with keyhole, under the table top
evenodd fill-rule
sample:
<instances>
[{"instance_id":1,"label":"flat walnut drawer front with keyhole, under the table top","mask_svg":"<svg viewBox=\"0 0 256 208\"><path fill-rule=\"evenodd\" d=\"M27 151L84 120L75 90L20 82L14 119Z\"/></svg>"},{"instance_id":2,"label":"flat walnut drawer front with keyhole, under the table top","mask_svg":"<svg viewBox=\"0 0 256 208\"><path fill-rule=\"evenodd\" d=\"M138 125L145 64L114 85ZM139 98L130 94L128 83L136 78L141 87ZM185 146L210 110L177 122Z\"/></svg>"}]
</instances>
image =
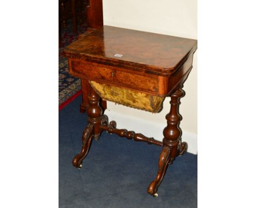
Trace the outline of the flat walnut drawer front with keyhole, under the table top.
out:
<instances>
[{"instance_id":1,"label":"flat walnut drawer front with keyhole, under the table top","mask_svg":"<svg viewBox=\"0 0 256 208\"><path fill-rule=\"evenodd\" d=\"M69 60L69 72L71 75L79 78L86 78L120 87L152 91L154 93L158 93L159 90L158 76L133 74L132 71L123 71L113 66Z\"/></svg>"}]
</instances>

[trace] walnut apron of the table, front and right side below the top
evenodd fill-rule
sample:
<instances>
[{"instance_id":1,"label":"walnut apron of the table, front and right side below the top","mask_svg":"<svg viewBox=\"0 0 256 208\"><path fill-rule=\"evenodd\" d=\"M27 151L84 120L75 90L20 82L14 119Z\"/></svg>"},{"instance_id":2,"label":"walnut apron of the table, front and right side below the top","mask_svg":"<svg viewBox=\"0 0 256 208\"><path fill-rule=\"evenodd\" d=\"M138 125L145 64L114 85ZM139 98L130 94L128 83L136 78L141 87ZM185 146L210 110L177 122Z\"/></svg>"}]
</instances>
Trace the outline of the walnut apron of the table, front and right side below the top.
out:
<instances>
[{"instance_id":1,"label":"walnut apron of the table, front and right side below the top","mask_svg":"<svg viewBox=\"0 0 256 208\"><path fill-rule=\"evenodd\" d=\"M169 96L177 84L183 83L191 70L193 54L175 74L168 76L147 74L114 66L68 59L69 73L75 77L114 85L156 96ZM185 77L184 77L185 76Z\"/></svg>"}]
</instances>

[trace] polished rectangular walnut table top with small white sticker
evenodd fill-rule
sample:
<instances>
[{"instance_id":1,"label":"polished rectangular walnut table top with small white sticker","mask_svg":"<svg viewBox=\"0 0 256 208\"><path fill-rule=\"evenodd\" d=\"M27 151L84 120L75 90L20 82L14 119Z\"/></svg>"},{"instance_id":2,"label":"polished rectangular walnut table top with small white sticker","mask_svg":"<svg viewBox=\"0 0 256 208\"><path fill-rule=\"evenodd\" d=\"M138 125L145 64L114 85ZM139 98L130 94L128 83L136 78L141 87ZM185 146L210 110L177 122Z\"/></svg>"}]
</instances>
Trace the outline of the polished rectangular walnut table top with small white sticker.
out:
<instances>
[{"instance_id":1,"label":"polished rectangular walnut table top with small white sticker","mask_svg":"<svg viewBox=\"0 0 256 208\"><path fill-rule=\"evenodd\" d=\"M103 26L73 42L64 52L66 57L89 62L173 73L196 48L197 40L193 39Z\"/></svg>"}]
</instances>

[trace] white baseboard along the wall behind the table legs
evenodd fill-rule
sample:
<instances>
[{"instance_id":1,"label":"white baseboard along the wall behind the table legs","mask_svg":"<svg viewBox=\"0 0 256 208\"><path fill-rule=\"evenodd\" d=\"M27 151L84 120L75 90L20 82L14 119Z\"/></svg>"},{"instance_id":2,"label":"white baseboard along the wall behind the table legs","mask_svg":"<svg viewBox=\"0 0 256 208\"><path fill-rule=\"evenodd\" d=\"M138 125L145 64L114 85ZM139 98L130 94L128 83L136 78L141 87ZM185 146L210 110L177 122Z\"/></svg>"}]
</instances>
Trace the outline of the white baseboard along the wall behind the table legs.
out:
<instances>
[{"instance_id":1,"label":"white baseboard along the wall behind the table legs","mask_svg":"<svg viewBox=\"0 0 256 208\"><path fill-rule=\"evenodd\" d=\"M144 136L153 137L159 141L162 141L162 138L164 137L162 131L164 130L166 124L154 123L152 121L109 111L108 109L106 109L104 114L108 116L109 121L117 121L117 129L135 131L136 133L142 133ZM182 142L188 143L188 152L197 154L197 134L183 130Z\"/></svg>"}]
</instances>

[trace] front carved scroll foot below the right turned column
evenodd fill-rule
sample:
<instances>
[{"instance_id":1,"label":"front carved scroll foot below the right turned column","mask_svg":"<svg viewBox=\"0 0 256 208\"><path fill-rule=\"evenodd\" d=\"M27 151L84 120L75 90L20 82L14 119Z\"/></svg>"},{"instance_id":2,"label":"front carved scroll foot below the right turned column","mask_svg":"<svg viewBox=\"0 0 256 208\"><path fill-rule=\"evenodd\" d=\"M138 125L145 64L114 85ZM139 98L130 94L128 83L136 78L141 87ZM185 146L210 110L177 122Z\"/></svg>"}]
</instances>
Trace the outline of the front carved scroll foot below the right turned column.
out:
<instances>
[{"instance_id":1,"label":"front carved scroll foot below the right turned column","mask_svg":"<svg viewBox=\"0 0 256 208\"><path fill-rule=\"evenodd\" d=\"M170 160L170 152L170 147L164 146L164 148L162 148L158 162L158 174L156 175L155 180L152 181L148 187L148 193L153 195L153 197L158 197L158 187L164 178L168 162Z\"/></svg>"}]
</instances>

